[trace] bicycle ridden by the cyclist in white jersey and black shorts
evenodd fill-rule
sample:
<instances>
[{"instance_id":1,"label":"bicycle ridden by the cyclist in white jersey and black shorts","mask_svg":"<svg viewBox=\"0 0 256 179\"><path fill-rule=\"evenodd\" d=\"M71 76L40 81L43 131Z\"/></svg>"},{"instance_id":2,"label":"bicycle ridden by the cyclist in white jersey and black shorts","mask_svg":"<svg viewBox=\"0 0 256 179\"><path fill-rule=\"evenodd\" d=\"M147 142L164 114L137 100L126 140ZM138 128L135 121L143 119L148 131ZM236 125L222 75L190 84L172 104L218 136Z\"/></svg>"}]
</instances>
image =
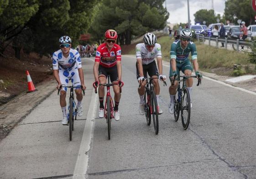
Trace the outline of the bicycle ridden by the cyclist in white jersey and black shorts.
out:
<instances>
[{"instance_id":1,"label":"bicycle ridden by the cyclist in white jersey and black shorts","mask_svg":"<svg viewBox=\"0 0 256 179\"><path fill-rule=\"evenodd\" d=\"M159 106L157 104L157 96L154 92L154 85L152 84L153 79L158 79L158 77L150 77L150 78L145 78L146 80L146 92L144 94L144 111L145 111L145 116L146 116L146 123L148 126L151 124L151 115L153 118L153 124L154 124L154 130L155 134L158 134L159 131L159 124L158 124L158 110ZM161 78L163 79L163 78ZM163 81L164 86L166 86L166 82ZM150 86L150 87L149 87ZM139 85L139 88L141 85Z\"/></svg>"}]
</instances>

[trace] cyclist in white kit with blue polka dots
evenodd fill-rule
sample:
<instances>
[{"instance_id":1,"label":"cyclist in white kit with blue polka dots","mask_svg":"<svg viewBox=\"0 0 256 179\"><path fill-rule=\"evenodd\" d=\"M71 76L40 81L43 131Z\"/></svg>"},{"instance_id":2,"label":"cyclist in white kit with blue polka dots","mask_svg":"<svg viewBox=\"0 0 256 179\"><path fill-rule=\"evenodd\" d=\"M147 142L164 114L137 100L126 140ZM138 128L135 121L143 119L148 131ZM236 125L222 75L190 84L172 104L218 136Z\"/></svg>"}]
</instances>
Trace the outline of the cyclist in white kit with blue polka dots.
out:
<instances>
[{"instance_id":1,"label":"cyclist in white kit with blue polka dots","mask_svg":"<svg viewBox=\"0 0 256 179\"><path fill-rule=\"evenodd\" d=\"M68 86L69 80L71 80L75 89L76 97L78 100L78 116L83 115L82 107L82 90L81 86L85 90L84 85L84 72L82 69L81 58L79 52L71 48L71 39L69 36L62 36L59 39L60 50L55 51L52 55L52 66L53 66L53 76L57 81L57 89L61 85ZM66 111L66 92L67 88L63 87L60 91L60 106L63 112L62 124L67 125L67 111Z\"/></svg>"}]
</instances>

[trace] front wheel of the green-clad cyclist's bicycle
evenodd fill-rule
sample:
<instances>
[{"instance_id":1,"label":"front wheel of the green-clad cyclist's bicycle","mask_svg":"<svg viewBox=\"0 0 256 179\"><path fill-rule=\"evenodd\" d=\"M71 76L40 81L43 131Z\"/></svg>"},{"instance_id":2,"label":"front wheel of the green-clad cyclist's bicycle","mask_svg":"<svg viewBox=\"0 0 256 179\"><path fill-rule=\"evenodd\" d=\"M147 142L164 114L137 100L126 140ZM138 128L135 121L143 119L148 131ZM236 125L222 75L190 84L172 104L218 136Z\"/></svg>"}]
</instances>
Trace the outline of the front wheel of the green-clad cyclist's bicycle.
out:
<instances>
[{"instance_id":1,"label":"front wheel of the green-clad cyclist's bicycle","mask_svg":"<svg viewBox=\"0 0 256 179\"><path fill-rule=\"evenodd\" d=\"M190 121L190 96L188 88L184 88L181 102L181 121L183 128L186 130Z\"/></svg>"}]
</instances>

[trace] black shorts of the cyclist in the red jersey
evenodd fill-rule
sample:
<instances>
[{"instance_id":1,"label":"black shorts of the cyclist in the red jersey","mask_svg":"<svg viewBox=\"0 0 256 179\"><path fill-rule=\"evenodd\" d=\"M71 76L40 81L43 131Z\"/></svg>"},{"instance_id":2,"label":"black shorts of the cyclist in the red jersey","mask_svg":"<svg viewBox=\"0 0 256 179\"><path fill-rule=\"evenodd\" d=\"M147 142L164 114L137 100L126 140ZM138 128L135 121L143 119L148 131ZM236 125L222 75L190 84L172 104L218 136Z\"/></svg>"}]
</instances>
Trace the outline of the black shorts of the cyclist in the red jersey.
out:
<instances>
[{"instance_id":1,"label":"black shorts of the cyclist in the red jersey","mask_svg":"<svg viewBox=\"0 0 256 179\"><path fill-rule=\"evenodd\" d=\"M112 83L118 82L117 66L107 68L99 65L99 77L107 77L108 75L110 75L110 81Z\"/></svg>"}]
</instances>

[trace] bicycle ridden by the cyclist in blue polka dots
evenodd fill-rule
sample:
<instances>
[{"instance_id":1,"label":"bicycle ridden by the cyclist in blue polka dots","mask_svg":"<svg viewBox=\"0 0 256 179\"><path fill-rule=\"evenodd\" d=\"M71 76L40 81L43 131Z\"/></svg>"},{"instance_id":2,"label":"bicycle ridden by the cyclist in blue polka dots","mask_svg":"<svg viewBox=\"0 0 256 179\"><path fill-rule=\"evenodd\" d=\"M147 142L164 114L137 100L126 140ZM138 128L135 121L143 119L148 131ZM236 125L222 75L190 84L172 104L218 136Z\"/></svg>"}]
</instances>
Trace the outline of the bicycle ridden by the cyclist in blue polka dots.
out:
<instances>
[{"instance_id":1,"label":"bicycle ridden by the cyclist in blue polka dots","mask_svg":"<svg viewBox=\"0 0 256 179\"><path fill-rule=\"evenodd\" d=\"M67 118L68 118L68 126L69 126L69 140L72 140L72 132L74 130L74 120L77 120L77 105L76 102L74 100L74 92L73 89L76 87L81 87L82 92L84 94L84 89L82 86L60 86L60 88L58 89L58 95L60 90L63 87L67 87L70 88L70 95L69 95L69 100L68 100L68 114L67 114ZM70 115L71 114L71 115Z\"/></svg>"}]
</instances>

